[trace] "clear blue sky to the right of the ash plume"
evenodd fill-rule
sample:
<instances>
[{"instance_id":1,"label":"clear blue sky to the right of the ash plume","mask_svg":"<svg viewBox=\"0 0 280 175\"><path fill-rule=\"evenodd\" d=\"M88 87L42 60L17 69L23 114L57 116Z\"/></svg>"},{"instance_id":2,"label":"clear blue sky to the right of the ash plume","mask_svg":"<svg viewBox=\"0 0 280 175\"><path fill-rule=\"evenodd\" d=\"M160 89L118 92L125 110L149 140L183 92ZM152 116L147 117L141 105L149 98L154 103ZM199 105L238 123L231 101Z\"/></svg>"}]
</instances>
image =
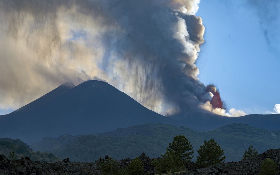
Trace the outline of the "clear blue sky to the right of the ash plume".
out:
<instances>
[{"instance_id":1,"label":"clear blue sky to the right of the ash plume","mask_svg":"<svg viewBox=\"0 0 280 175\"><path fill-rule=\"evenodd\" d=\"M276 34L269 44L258 14L257 8L238 0L201 0L197 13L205 26L199 78L217 86L228 108L247 114L266 114L280 103L280 22L278 18L267 27Z\"/></svg>"}]
</instances>

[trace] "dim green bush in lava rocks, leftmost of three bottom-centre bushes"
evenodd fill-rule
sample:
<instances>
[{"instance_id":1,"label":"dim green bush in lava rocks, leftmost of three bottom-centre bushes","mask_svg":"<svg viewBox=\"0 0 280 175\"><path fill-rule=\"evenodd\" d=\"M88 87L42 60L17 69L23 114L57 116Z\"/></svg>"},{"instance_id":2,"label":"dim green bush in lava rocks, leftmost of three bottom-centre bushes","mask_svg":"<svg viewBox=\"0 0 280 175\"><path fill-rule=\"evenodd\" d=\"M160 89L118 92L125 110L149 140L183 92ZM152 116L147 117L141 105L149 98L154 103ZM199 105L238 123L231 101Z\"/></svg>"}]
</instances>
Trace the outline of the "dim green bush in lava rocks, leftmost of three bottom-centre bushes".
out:
<instances>
[{"instance_id":1,"label":"dim green bush in lava rocks, leftmost of three bottom-centre bushes","mask_svg":"<svg viewBox=\"0 0 280 175\"><path fill-rule=\"evenodd\" d=\"M118 163L112 157L100 163L102 175L116 175L118 171Z\"/></svg>"}]
</instances>

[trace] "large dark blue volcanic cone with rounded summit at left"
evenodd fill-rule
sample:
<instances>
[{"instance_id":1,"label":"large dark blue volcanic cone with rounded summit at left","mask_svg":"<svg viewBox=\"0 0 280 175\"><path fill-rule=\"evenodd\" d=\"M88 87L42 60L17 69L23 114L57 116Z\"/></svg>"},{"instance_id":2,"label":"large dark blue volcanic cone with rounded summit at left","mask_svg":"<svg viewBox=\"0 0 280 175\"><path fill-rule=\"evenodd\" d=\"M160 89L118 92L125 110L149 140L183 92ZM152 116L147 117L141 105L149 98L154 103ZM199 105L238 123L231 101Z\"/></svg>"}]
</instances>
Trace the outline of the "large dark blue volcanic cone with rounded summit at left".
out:
<instances>
[{"instance_id":1,"label":"large dark blue volcanic cone with rounded summit at left","mask_svg":"<svg viewBox=\"0 0 280 175\"><path fill-rule=\"evenodd\" d=\"M108 83L68 82L8 115L0 116L0 138L26 143L44 136L101 133L142 123L172 123Z\"/></svg>"}]
</instances>

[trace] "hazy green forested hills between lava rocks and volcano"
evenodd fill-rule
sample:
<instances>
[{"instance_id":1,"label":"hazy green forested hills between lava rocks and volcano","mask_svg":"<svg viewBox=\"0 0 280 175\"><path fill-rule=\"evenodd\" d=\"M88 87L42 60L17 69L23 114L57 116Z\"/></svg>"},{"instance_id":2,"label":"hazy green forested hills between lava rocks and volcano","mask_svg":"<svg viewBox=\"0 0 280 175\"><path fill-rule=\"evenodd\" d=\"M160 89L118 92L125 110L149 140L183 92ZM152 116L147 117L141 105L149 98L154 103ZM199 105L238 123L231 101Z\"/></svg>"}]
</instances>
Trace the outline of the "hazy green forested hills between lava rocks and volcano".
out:
<instances>
[{"instance_id":1,"label":"hazy green forested hills between lava rocks and volcano","mask_svg":"<svg viewBox=\"0 0 280 175\"><path fill-rule=\"evenodd\" d=\"M279 148L279 133L236 123L206 132L165 124L143 124L95 135L45 137L31 147L37 151L51 151L60 158L69 157L72 161L95 161L107 154L116 159L134 158L142 152L149 157L159 157L173 137L181 134L193 145L194 159L203 141L214 138L224 149L226 161L239 161L251 144L259 153Z\"/></svg>"}]
</instances>

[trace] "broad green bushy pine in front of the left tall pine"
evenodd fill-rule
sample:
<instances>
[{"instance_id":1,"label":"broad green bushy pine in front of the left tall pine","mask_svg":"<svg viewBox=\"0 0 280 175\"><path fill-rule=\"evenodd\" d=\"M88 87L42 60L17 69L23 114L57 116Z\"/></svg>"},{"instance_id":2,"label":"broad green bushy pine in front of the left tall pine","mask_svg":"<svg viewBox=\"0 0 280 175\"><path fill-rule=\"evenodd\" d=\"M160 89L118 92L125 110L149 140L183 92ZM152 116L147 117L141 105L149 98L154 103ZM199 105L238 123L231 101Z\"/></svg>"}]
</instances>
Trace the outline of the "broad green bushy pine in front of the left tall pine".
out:
<instances>
[{"instance_id":1,"label":"broad green bushy pine in front of the left tall pine","mask_svg":"<svg viewBox=\"0 0 280 175\"><path fill-rule=\"evenodd\" d=\"M161 159L152 161L152 166L155 166L158 174L171 174L185 168L183 161L173 151L166 150L161 156Z\"/></svg>"}]
</instances>

